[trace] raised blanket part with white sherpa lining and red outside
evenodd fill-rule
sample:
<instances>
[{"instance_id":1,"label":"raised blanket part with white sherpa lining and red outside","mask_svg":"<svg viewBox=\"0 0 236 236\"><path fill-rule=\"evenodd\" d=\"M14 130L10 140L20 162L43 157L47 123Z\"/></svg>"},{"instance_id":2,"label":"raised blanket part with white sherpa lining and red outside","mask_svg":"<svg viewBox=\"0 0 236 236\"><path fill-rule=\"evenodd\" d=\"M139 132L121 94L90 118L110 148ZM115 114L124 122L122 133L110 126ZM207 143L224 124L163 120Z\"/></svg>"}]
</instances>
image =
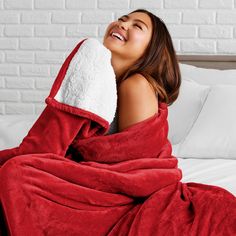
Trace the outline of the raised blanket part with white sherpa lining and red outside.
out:
<instances>
[{"instance_id":1,"label":"raised blanket part with white sherpa lining and red outside","mask_svg":"<svg viewBox=\"0 0 236 236\"><path fill-rule=\"evenodd\" d=\"M0 151L0 165L29 153L65 156L77 136L86 138L108 130L116 101L111 52L96 39L82 40L63 63L45 109L22 143Z\"/></svg>"}]
</instances>

